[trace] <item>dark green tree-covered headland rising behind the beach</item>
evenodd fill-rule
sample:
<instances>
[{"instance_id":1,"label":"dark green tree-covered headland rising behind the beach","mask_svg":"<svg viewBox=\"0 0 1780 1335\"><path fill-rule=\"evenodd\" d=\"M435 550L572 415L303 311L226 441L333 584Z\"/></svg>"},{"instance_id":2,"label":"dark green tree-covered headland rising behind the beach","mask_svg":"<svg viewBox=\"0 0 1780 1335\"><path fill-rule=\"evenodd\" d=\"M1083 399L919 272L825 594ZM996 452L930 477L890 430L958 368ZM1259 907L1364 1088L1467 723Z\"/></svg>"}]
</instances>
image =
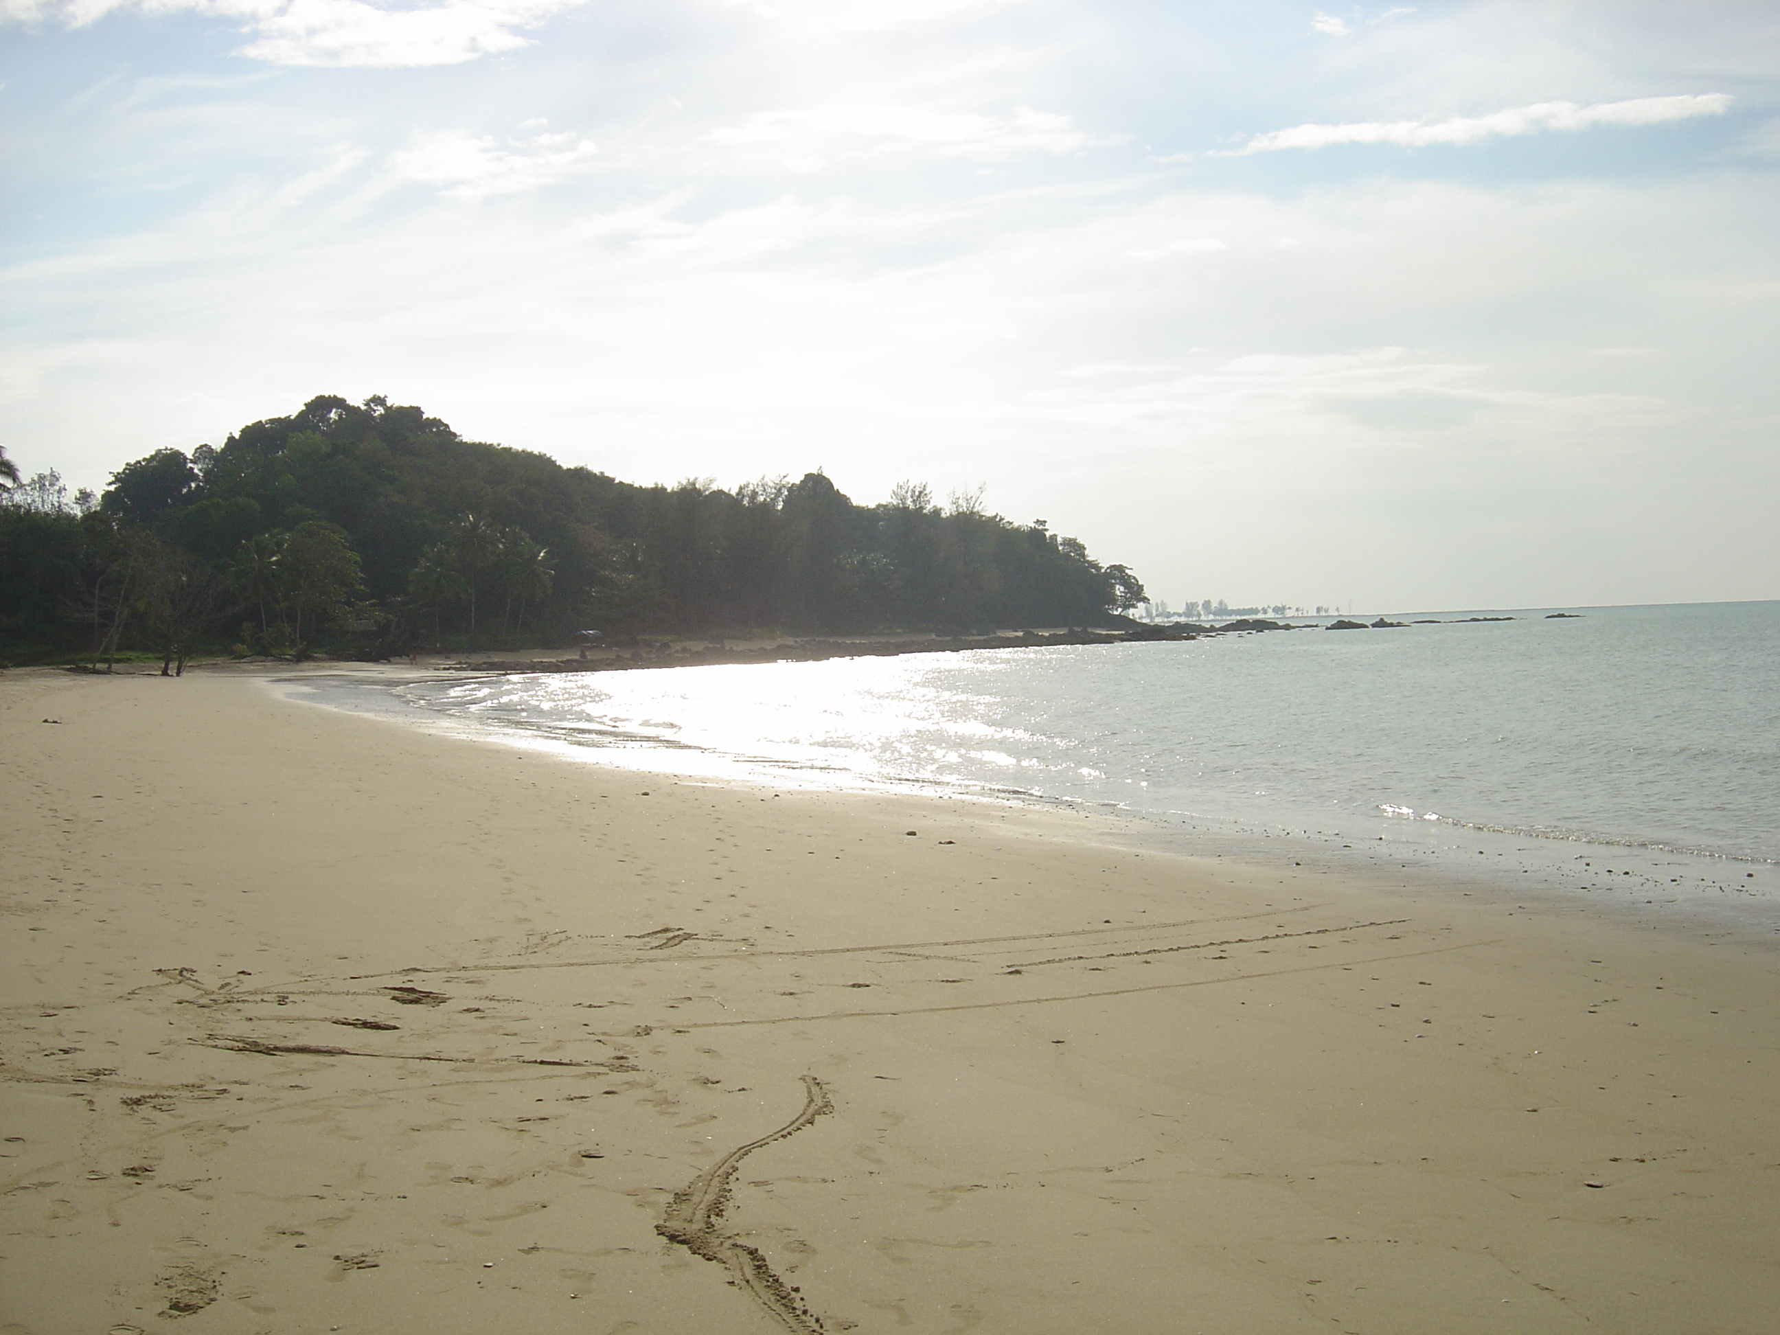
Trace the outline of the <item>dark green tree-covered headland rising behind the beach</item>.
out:
<instances>
[{"instance_id":1,"label":"dark green tree-covered headland rising behind the beach","mask_svg":"<svg viewBox=\"0 0 1780 1335\"><path fill-rule=\"evenodd\" d=\"M821 472L637 486L381 397L319 397L221 447L155 450L98 498L69 502L53 473L0 495L12 662L1093 625L1143 596L1045 522L970 497L940 507L917 482L879 506Z\"/></svg>"}]
</instances>

